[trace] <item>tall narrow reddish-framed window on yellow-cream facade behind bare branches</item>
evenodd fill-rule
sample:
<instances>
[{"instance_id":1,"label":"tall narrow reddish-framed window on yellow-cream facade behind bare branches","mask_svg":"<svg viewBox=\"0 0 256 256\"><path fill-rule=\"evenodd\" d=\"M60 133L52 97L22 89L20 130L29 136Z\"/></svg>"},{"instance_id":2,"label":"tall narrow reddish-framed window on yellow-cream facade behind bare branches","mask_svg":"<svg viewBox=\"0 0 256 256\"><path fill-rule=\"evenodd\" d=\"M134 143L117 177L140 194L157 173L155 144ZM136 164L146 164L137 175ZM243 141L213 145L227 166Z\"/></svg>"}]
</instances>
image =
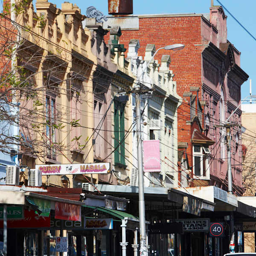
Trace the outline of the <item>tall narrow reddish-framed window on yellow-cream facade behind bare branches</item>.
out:
<instances>
[{"instance_id":1,"label":"tall narrow reddish-framed window on yellow-cream facade behind bare branches","mask_svg":"<svg viewBox=\"0 0 256 256\"><path fill-rule=\"evenodd\" d=\"M56 160L56 129L55 129L55 119L56 119L56 104L55 96L46 96L46 145L47 145L47 157L49 159Z\"/></svg>"}]
</instances>

